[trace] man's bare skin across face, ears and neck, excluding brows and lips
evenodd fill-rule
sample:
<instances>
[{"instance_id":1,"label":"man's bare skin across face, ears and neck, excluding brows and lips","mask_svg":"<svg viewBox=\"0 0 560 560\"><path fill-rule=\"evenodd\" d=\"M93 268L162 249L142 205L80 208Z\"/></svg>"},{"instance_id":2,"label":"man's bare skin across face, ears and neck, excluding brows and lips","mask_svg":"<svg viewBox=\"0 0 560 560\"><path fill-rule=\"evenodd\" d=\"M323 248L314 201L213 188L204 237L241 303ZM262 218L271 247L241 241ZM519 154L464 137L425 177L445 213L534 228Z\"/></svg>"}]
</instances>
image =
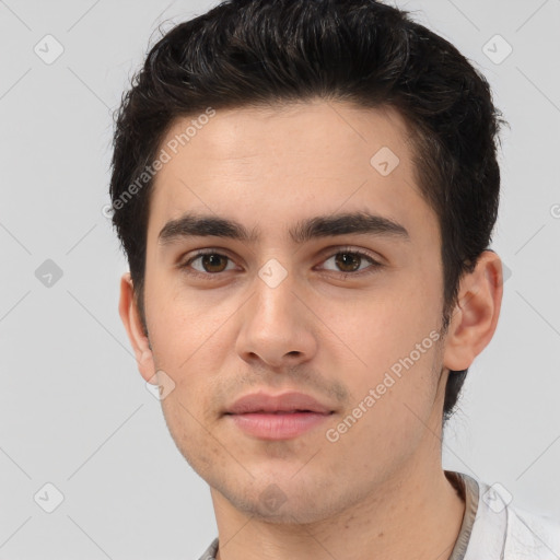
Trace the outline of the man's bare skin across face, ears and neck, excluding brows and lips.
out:
<instances>
[{"instance_id":1,"label":"man's bare skin across face, ears and neck, excluding brows and lips","mask_svg":"<svg viewBox=\"0 0 560 560\"><path fill-rule=\"evenodd\" d=\"M190 118L177 121L162 145ZM416 186L408 137L393 109L341 102L222 110L156 176L149 338L128 273L119 312L142 377L154 383L163 370L175 383L162 400L165 420L211 488L222 560L451 555L465 504L442 469L444 386L448 370L470 366L493 336L502 299L498 255L485 252L463 278L447 335L337 442L325 436L399 358L441 328L440 232ZM370 164L382 147L400 160L387 176ZM410 238L352 233L295 244L288 234L301 220L364 210L404 225ZM165 223L187 211L235 220L260 237L160 243ZM200 258L178 267L205 248L229 258L214 268ZM357 249L383 266L352 276L337 255ZM276 288L258 276L272 258L288 275ZM361 270L372 269L354 258ZM258 389L306 393L335 413L295 439L259 440L222 415ZM272 510L261 495L270 485L284 500Z\"/></svg>"}]
</instances>

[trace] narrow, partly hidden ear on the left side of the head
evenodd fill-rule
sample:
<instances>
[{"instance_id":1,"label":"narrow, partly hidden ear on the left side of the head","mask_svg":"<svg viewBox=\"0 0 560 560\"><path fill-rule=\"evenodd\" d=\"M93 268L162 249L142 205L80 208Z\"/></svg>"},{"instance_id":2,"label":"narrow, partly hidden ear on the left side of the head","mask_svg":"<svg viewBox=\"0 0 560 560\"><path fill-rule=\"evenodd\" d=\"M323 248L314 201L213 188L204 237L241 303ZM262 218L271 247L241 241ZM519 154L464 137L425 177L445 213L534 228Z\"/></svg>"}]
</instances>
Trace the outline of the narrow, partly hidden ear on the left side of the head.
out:
<instances>
[{"instance_id":1,"label":"narrow, partly hidden ear on the left side of the head","mask_svg":"<svg viewBox=\"0 0 560 560\"><path fill-rule=\"evenodd\" d=\"M155 374L155 364L152 350L150 349L150 341L142 328L130 272L124 273L120 279L118 312L127 330L130 343L132 345L132 349L135 350L138 370L142 374L142 377L150 382ZM154 381L151 381L151 383L156 385Z\"/></svg>"}]
</instances>

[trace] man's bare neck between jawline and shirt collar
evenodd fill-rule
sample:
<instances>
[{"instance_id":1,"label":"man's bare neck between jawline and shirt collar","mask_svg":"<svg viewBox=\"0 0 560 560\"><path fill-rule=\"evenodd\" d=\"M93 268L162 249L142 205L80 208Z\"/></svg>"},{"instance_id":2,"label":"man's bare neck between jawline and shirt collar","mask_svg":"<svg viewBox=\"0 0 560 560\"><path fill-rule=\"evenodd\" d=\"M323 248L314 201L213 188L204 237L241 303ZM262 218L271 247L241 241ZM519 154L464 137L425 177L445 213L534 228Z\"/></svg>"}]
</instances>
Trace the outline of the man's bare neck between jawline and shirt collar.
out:
<instances>
[{"instance_id":1,"label":"man's bare neck between jawline and shirt collar","mask_svg":"<svg viewBox=\"0 0 560 560\"><path fill-rule=\"evenodd\" d=\"M425 463L423 463L425 465ZM350 510L317 523L273 524L235 510L211 490L219 533L217 560L448 559L465 503L441 464L385 481Z\"/></svg>"}]
</instances>

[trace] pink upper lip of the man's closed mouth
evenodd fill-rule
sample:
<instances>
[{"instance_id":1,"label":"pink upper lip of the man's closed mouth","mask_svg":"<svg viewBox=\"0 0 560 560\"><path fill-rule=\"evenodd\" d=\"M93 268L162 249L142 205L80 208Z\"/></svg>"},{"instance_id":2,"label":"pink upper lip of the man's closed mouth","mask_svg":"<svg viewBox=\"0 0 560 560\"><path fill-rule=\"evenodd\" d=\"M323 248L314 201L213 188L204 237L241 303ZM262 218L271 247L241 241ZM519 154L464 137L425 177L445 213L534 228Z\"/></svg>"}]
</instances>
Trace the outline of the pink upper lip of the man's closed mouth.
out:
<instances>
[{"instance_id":1,"label":"pink upper lip of the man's closed mouth","mask_svg":"<svg viewBox=\"0 0 560 560\"><path fill-rule=\"evenodd\" d=\"M316 412L329 415L332 409L323 405L317 399L303 393L284 393L283 395L269 395L266 393L253 393L237 399L228 408L226 415L261 413L293 413Z\"/></svg>"}]
</instances>

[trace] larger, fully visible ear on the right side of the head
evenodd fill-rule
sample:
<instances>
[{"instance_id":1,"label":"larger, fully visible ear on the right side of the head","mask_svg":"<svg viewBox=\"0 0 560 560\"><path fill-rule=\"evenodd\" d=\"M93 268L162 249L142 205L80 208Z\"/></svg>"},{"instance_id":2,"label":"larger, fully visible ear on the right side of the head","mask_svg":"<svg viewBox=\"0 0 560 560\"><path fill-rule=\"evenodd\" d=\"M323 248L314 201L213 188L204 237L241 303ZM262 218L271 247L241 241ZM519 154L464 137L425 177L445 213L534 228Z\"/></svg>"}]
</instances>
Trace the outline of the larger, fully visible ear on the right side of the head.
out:
<instances>
[{"instance_id":1,"label":"larger, fully visible ear on the right side of the head","mask_svg":"<svg viewBox=\"0 0 560 560\"><path fill-rule=\"evenodd\" d=\"M444 366L466 370L492 339L502 304L502 261L485 250L459 284L458 303L446 336Z\"/></svg>"}]
</instances>

